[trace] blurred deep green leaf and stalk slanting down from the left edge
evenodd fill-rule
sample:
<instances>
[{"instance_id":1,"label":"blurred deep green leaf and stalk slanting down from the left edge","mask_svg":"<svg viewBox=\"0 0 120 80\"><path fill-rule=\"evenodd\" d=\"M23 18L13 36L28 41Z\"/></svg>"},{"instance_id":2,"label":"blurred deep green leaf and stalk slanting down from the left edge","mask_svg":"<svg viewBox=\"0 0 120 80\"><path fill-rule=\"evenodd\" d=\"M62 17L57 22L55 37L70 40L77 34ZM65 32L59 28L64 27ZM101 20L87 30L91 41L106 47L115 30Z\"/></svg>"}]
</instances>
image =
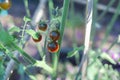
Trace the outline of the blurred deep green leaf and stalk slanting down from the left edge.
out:
<instances>
[{"instance_id":1,"label":"blurred deep green leaf and stalk slanting down from the left edge","mask_svg":"<svg viewBox=\"0 0 120 80\"><path fill-rule=\"evenodd\" d=\"M13 41L12 36L10 36L0 24L0 43L4 46L8 47L9 49L18 50L27 60L29 60L31 63L35 63L36 61L29 56L26 52L24 52L21 48L19 48Z\"/></svg>"}]
</instances>

